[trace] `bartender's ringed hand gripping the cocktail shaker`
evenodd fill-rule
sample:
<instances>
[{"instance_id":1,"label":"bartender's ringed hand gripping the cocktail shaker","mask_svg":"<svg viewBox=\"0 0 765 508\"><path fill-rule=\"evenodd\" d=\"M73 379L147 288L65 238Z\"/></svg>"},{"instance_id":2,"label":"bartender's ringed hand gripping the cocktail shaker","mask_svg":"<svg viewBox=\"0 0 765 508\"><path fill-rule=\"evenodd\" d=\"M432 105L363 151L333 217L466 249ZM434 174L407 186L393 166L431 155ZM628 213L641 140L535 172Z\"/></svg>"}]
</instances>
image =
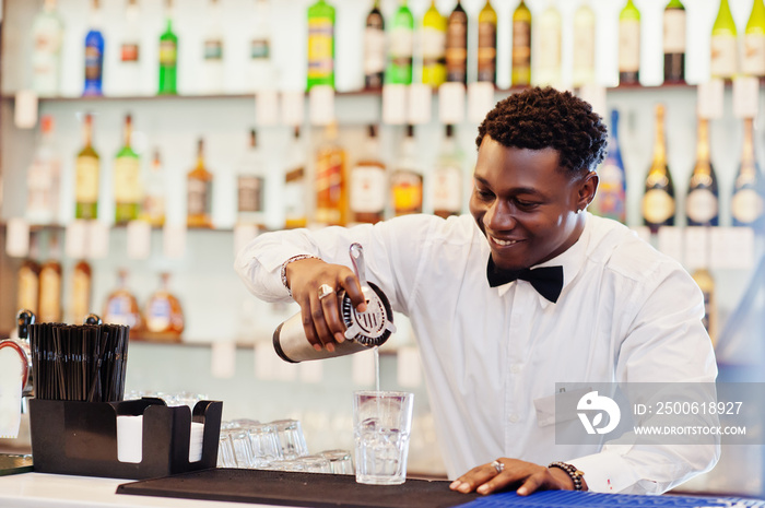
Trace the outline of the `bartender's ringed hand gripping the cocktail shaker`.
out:
<instances>
[{"instance_id":1,"label":"bartender's ringed hand gripping the cocktail shaker","mask_svg":"<svg viewBox=\"0 0 765 508\"><path fill-rule=\"evenodd\" d=\"M321 347L334 351L334 343L345 340L345 326L340 318L337 292L345 290L356 310L366 310L366 299L358 279L348 267L330 264L316 258L291 262L286 265L285 274L292 297L301 306L303 329L308 342L316 351L321 351ZM319 298L323 284L334 291Z\"/></svg>"}]
</instances>

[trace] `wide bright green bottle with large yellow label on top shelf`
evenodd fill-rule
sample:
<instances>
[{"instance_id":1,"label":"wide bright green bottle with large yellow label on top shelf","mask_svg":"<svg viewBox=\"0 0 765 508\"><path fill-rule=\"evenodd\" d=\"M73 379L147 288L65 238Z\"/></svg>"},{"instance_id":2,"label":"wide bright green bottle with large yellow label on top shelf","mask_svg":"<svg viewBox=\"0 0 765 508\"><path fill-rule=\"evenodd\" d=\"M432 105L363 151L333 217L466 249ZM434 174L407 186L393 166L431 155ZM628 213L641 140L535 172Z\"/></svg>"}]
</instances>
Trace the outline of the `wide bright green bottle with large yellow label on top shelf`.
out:
<instances>
[{"instance_id":1,"label":"wide bright green bottle with large yellow label on top shelf","mask_svg":"<svg viewBox=\"0 0 765 508\"><path fill-rule=\"evenodd\" d=\"M318 0L308 8L308 82L334 87L334 8Z\"/></svg>"}]
</instances>

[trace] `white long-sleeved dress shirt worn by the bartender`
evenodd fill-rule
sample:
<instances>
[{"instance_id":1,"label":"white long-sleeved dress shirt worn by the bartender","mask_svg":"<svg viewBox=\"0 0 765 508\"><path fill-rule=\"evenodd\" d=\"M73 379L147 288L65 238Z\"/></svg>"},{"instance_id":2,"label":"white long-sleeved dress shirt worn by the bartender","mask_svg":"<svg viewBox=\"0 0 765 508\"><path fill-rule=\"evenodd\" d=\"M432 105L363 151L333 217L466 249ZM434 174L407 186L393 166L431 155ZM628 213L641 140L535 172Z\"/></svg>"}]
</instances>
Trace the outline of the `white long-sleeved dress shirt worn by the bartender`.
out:
<instances>
[{"instance_id":1,"label":"white long-sleeved dress shirt worn by the bartender","mask_svg":"<svg viewBox=\"0 0 765 508\"><path fill-rule=\"evenodd\" d=\"M499 457L563 460L591 491L660 493L717 461L715 446L555 445L555 425L540 417L556 382L717 376L698 286L627 227L587 214L578 241L540 264L563 265L556 304L526 281L490 287L489 244L470 215L268 233L235 268L256 296L289 300L280 277L287 258L350 267L354 241L367 279L411 320L449 477Z\"/></svg>"}]
</instances>

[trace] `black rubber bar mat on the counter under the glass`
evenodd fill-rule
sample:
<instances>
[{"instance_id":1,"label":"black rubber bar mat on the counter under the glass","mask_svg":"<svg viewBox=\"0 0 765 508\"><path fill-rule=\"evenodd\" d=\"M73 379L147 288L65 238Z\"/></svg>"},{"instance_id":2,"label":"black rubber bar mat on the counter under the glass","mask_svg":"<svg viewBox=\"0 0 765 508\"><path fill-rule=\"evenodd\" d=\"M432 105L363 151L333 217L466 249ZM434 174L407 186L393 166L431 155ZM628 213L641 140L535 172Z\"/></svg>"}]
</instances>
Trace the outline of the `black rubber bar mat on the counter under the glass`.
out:
<instances>
[{"instance_id":1,"label":"black rubber bar mat on the counter under the glass","mask_svg":"<svg viewBox=\"0 0 765 508\"><path fill-rule=\"evenodd\" d=\"M142 480L120 485L117 494L319 508L446 508L478 497L449 491L445 481L362 485L353 475L246 469L210 469Z\"/></svg>"}]
</instances>

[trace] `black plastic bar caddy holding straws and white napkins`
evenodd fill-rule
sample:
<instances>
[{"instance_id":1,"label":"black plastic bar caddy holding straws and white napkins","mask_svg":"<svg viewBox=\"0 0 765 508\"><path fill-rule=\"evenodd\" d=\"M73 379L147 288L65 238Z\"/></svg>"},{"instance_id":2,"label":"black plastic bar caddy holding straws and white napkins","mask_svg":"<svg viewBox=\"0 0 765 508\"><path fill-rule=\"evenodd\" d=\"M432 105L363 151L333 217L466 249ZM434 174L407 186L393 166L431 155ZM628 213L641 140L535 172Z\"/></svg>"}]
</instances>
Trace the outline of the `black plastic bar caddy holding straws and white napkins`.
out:
<instances>
[{"instance_id":1,"label":"black plastic bar caddy holding straws and white napkins","mask_svg":"<svg viewBox=\"0 0 765 508\"><path fill-rule=\"evenodd\" d=\"M215 468L223 402L168 407L160 399L80 402L33 399L30 429L34 469L40 473L142 480ZM117 459L117 416L143 415L139 463ZM191 422L204 424L202 458L189 462Z\"/></svg>"}]
</instances>

